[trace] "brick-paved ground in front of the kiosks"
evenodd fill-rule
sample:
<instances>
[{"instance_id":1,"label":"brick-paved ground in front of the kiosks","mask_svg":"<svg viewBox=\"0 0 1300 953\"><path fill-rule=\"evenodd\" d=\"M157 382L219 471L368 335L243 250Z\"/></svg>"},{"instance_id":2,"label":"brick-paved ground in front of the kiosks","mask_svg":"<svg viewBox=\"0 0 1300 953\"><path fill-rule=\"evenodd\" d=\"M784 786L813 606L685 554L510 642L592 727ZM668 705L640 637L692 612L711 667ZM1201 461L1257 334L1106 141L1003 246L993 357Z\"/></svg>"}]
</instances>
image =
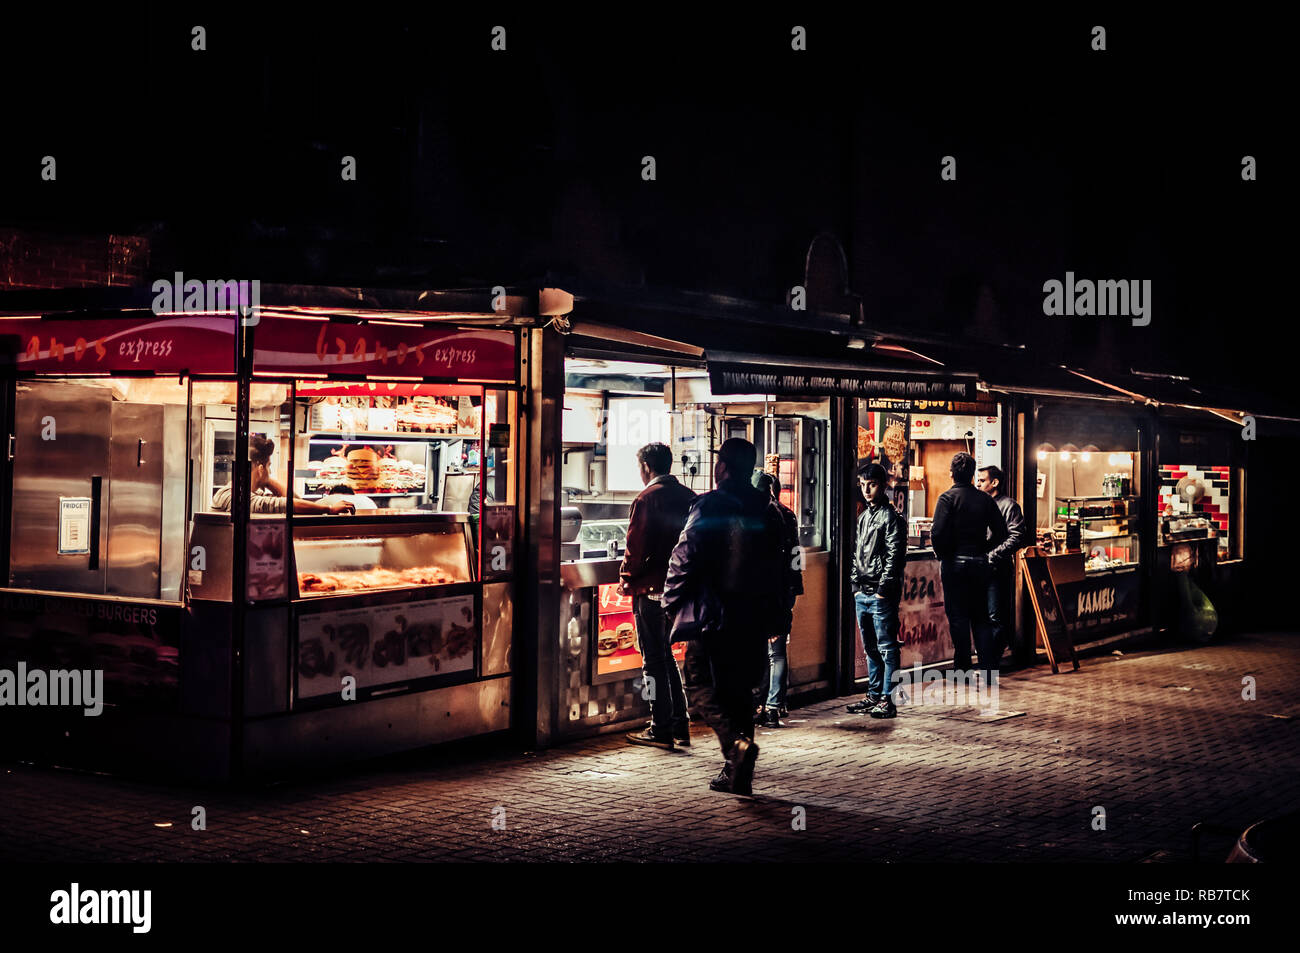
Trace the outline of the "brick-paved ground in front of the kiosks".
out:
<instances>
[{"instance_id":1,"label":"brick-paved ground in front of the kiosks","mask_svg":"<svg viewBox=\"0 0 1300 953\"><path fill-rule=\"evenodd\" d=\"M1015 716L871 720L820 702L759 732L751 800L707 789L720 755L702 728L681 753L619 735L247 793L6 764L0 859L1190 859L1196 822L1240 831L1300 803L1297 681L1300 636L1268 633L1013 673L1000 709ZM207 831L190 829L194 805ZM1230 844L1204 846L1222 859Z\"/></svg>"}]
</instances>

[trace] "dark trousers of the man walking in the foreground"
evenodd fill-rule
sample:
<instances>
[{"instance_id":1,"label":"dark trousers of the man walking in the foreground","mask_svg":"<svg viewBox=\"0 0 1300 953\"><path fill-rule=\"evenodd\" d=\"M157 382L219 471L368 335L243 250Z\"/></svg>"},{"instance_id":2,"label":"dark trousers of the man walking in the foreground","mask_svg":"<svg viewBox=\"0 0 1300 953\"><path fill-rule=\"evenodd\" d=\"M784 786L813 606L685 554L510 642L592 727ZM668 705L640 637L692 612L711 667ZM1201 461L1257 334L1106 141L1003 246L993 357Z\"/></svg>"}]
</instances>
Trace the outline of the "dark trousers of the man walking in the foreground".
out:
<instances>
[{"instance_id":1,"label":"dark trousers of the man walking in the foreground","mask_svg":"<svg viewBox=\"0 0 1300 953\"><path fill-rule=\"evenodd\" d=\"M686 642L684 679L697 718L718 735L723 754L754 737L754 684L767 667L767 640L754 632Z\"/></svg>"}]
</instances>

